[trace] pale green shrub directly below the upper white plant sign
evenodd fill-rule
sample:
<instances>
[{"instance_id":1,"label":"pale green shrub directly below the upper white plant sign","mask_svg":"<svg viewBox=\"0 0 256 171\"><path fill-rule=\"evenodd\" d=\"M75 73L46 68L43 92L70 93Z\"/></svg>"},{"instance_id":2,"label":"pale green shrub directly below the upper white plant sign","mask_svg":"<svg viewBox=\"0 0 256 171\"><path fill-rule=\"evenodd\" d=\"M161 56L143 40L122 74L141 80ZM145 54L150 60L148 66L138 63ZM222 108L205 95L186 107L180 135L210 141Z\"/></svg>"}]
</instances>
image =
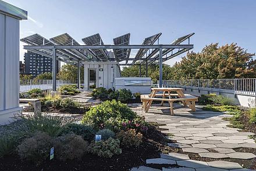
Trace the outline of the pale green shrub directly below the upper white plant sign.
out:
<instances>
[{"instance_id":1,"label":"pale green shrub directly below the upper white plant sign","mask_svg":"<svg viewBox=\"0 0 256 171\"><path fill-rule=\"evenodd\" d=\"M111 158L113 155L122 153L120 141L109 138L105 141L95 141L89 145L89 151L99 157Z\"/></svg>"}]
</instances>

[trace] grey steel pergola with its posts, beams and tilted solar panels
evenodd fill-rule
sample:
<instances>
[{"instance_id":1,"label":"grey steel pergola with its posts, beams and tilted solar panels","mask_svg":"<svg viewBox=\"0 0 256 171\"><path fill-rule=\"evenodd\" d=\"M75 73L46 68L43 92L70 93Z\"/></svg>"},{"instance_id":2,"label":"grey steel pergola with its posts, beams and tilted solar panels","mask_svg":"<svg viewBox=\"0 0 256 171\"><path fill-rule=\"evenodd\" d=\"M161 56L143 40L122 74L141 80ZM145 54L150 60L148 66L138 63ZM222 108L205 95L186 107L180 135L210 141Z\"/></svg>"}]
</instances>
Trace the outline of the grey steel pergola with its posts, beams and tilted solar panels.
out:
<instances>
[{"instance_id":1,"label":"grey steel pergola with its posts, beams and tilted solar panels","mask_svg":"<svg viewBox=\"0 0 256 171\"><path fill-rule=\"evenodd\" d=\"M157 61L157 64L159 64L159 86L162 86L163 62L172 59L179 54L187 52L190 49L193 49L194 45L190 44L190 37L192 35L194 35L194 33L177 38L169 45L159 44L159 37L161 36L161 33L145 38L143 44L141 45L130 45L130 34L125 34L114 38L113 42L115 45L104 45L99 34L83 38L83 42L87 45L80 45L67 33L49 40L41 37L41 35L34 34L30 36L31 38L26 37L20 39L20 41L29 44L24 45L24 49L42 54L43 56L47 56L52 59L52 90L55 91L56 60L76 65L78 68L81 66L82 61L118 61L119 66L140 66L140 71L141 66L145 65L146 77L148 75L148 64ZM35 42L33 42L34 39ZM189 44L180 44L187 39L189 40ZM157 40L158 44L154 45ZM110 49L113 50L113 53L115 54L114 57L108 56L107 52ZM138 49L135 57L130 57L131 49ZM174 52L174 50L177 50L177 52ZM89 57L88 54L90 54L91 57ZM125 63L120 63L122 61L125 61ZM131 63L128 63L128 61L131 61ZM80 69L78 70L77 75L80 75ZM80 77L77 79L77 86L80 88Z\"/></svg>"}]
</instances>

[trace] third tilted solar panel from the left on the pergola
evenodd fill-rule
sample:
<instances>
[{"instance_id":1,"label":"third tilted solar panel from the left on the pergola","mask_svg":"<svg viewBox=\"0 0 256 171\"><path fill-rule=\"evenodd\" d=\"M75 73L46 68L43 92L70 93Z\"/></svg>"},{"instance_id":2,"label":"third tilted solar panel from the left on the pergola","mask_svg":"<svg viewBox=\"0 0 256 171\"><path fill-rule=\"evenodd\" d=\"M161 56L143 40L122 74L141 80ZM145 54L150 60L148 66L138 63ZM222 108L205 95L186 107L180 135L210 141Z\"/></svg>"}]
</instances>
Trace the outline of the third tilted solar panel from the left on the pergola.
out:
<instances>
[{"instance_id":1,"label":"third tilted solar panel from the left on the pergola","mask_svg":"<svg viewBox=\"0 0 256 171\"><path fill-rule=\"evenodd\" d=\"M101 36L97 33L83 38L82 41L86 45L104 45ZM101 60L108 60L108 54L105 49L91 49L95 55Z\"/></svg>"}]
</instances>

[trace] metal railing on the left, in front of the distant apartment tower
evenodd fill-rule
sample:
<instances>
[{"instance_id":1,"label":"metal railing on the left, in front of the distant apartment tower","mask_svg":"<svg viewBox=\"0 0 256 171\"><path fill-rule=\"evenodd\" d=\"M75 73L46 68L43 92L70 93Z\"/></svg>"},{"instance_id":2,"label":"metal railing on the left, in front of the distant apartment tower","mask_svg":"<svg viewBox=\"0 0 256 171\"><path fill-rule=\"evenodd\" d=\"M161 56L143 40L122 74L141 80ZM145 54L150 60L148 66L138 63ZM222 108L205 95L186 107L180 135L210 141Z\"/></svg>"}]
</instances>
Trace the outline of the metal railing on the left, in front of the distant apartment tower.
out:
<instances>
[{"instance_id":1,"label":"metal railing on the left, in front of the distant apartment tower","mask_svg":"<svg viewBox=\"0 0 256 171\"><path fill-rule=\"evenodd\" d=\"M82 83L83 81L81 81ZM76 84L77 82L56 80L56 86L59 88L62 85ZM20 92L28 92L31 89L49 90L52 89L52 79L20 79Z\"/></svg>"}]
</instances>

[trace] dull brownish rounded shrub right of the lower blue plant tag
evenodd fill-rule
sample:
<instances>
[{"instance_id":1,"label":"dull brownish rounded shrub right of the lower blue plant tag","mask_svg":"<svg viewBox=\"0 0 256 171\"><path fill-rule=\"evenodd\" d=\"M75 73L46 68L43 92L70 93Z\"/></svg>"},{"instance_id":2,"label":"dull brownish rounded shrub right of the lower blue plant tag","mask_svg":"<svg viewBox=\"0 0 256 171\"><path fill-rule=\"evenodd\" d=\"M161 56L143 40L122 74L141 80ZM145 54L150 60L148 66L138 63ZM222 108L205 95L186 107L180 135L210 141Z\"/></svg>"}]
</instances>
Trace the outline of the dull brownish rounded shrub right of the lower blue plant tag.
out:
<instances>
[{"instance_id":1,"label":"dull brownish rounded shrub right of the lower blue plant tag","mask_svg":"<svg viewBox=\"0 0 256 171\"><path fill-rule=\"evenodd\" d=\"M59 161L81 159L88 149L88 142L76 134L65 134L55 139L54 147Z\"/></svg>"}]
</instances>

